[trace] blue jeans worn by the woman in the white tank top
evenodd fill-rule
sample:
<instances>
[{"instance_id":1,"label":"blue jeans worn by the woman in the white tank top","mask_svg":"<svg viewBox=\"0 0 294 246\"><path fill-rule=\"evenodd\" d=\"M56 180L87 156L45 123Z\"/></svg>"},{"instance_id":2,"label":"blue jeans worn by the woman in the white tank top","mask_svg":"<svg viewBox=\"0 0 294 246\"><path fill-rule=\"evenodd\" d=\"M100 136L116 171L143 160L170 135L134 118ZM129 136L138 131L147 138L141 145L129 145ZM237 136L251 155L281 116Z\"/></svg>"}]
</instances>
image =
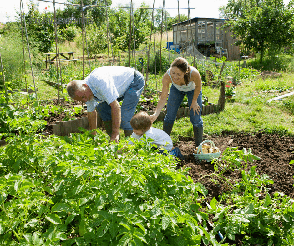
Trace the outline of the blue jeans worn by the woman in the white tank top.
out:
<instances>
[{"instance_id":1,"label":"blue jeans worn by the woman in the white tank top","mask_svg":"<svg viewBox=\"0 0 294 246\"><path fill-rule=\"evenodd\" d=\"M189 109L192 103L192 99L194 96L194 90L192 91L179 91L177 88L175 88L174 85L171 85L170 87L170 94L167 100L167 113L164 118L164 122L166 123L174 123L175 118L177 116L178 109L184 99L184 96L187 95L188 97L188 104ZM202 90L199 93L199 96L197 98L197 103L200 106L200 113L199 115L194 116L193 110L190 111L190 121L193 126L195 127L203 127L203 121L201 118L201 111L202 111Z\"/></svg>"}]
</instances>

